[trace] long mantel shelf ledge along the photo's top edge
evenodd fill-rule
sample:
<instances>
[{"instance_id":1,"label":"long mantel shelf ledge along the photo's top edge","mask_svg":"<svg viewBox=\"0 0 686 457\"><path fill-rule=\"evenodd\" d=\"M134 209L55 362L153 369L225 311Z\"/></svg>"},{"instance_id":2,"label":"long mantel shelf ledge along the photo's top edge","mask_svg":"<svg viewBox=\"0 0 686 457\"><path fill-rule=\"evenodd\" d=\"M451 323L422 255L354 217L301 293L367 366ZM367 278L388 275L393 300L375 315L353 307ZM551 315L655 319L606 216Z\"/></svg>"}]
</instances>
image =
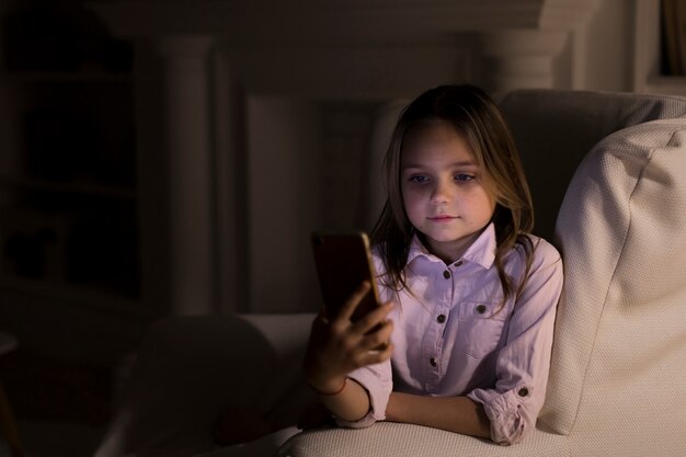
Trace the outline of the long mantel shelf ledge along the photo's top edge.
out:
<instances>
[{"instance_id":1,"label":"long mantel shelf ledge along the photo's top edge","mask_svg":"<svg viewBox=\"0 0 686 457\"><path fill-rule=\"evenodd\" d=\"M115 34L202 34L241 46L389 44L459 32L573 30L598 0L122 0L93 2ZM312 42L315 39L315 42Z\"/></svg>"}]
</instances>

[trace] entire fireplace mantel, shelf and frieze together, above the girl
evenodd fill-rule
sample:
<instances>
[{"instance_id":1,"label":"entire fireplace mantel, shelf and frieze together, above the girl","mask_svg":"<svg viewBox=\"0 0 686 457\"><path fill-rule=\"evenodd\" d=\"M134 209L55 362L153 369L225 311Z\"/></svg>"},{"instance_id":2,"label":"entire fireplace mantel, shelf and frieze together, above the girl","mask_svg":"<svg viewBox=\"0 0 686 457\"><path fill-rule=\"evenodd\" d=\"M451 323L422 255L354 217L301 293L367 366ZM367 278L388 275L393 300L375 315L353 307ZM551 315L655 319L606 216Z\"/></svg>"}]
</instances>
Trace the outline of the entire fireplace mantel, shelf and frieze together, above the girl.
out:
<instances>
[{"instance_id":1,"label":"entire fireplace mantel, shelf and frieze together, above the girl","mask_svg":"<svg viewBox=\"0 0 686 457\"><path fill-rule=\"evenodd\" d=\"M422 68L459 80L465 65L493 73L482 83L495 92L550 87L556 59L568 41L574 46L601 2L111 0L90 5L119 37L211 38L253 92L388 98L398 76L425 84ZM578 58L574 50L571 56ZM527 62L533 62L530 78ZM343 84L342 71L351 76ZM379 81L384 72L395 75L392 81Z\"/></svg>"}]
</instances>

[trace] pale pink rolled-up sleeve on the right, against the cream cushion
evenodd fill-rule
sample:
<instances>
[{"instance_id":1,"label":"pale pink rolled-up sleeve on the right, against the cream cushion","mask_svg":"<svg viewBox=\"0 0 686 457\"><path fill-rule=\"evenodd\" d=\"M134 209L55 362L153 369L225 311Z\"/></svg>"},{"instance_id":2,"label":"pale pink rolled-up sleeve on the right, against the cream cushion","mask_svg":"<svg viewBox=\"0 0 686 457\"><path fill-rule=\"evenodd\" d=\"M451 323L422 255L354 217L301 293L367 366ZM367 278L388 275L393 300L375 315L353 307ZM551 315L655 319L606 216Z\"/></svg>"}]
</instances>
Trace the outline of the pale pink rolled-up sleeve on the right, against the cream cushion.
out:
<instances>
[{"instance_id":1,"label":"pale pink rolled-up sleeve on the right, against the cream cushion","mask_svg":"<svg viewBox=\"0 0 686 457\"><path fill-rule=\"evenodd\" d=\"M496 382L468 397L483 404L491 422L491 439L502 445L519 442L534 429L544 404L554 316L562 290L562 262L541 241L527 284L516 300L507 339L496 356Z\"/></svg>"}]
</instances>

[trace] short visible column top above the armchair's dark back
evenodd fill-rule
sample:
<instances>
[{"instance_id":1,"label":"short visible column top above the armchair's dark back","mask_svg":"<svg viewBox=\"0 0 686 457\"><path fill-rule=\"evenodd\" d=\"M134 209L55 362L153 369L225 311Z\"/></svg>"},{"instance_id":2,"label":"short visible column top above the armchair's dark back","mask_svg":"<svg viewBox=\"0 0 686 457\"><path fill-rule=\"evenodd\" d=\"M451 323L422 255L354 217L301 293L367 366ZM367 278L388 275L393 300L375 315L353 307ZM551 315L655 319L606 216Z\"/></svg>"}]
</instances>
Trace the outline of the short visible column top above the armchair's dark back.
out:
<instances>
[{"instance_id":1,"label":"short visible column top above the armchair's dark back","mask_svg":"<svg viewBox=\"0 0 686 457\"><path fill-rule=\"evenodd\" d=\"M483 80L494 93L522 88L554 88L554 62L567 31L506 30L480 35Z\"/></svg>"}]
</instances>

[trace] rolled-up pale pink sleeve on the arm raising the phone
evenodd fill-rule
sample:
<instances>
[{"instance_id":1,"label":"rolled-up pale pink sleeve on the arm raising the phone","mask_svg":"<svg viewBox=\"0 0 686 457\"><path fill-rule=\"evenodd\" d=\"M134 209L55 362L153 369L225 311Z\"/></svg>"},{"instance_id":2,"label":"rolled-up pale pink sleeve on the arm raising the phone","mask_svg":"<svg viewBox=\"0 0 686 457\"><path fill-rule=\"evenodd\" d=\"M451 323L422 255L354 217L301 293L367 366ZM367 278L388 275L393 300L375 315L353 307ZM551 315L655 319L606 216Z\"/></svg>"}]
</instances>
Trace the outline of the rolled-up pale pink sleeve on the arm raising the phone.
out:
<instances>
[{"instance_id":1,"label":"rolled-up pale pink sleeve on the arm raising the phone","mask_svg":"<svg viewBox=\"0 0 686 457\"><path fill-rule=\"evenodd\" d=\"M347 377L358 382L369 395L369 412L359 421L348 422L338 419L336 423L340 426L363 429L385 420L386 405L393 390L390 361L358 368Z\"/></svg>"}]
</instances>

